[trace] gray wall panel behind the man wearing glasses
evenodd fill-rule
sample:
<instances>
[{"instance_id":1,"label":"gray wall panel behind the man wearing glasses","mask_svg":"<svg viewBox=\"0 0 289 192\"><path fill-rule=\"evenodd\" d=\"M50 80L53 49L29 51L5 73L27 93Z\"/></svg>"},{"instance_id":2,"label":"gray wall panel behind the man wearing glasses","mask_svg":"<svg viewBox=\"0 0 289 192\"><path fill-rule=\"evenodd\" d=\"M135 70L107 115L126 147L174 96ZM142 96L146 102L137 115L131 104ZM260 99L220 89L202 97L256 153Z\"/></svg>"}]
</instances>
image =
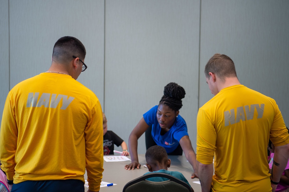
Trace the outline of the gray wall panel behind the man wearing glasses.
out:
<instances>
[{"instance_id":1,"label":"gray wall panel behind the man wearing glasses","mask_svg":"<svg viewBox=\"0 0 289 192\"><path fill-rule=\"evenodd\" d=\"M10 1L10 89L47 71L53 46L63 36L76 37L86 47L88 69L77 80L103 106L104 1Z\"/></svg>"}]
</instances>

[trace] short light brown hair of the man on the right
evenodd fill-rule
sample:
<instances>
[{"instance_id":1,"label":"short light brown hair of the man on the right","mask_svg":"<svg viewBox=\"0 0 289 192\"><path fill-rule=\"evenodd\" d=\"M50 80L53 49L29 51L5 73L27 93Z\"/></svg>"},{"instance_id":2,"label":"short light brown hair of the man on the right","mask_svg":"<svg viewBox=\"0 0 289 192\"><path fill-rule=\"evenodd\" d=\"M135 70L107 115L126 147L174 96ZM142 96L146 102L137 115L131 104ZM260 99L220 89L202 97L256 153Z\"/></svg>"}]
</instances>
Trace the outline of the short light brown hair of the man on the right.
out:
<instances>
[{"instance_id":1,"label":"short light brown hair of the man on the right","mask_svg":"<svg viewBox=\"0 0 289 192\"><path fill-rule=\"evenodd\" d=\"M216 74L222 81L227 77L237 77L235 64L230 57L216 53L205 66L205 76L209 79L209 72Z\"/></svg>"}]
</instances>

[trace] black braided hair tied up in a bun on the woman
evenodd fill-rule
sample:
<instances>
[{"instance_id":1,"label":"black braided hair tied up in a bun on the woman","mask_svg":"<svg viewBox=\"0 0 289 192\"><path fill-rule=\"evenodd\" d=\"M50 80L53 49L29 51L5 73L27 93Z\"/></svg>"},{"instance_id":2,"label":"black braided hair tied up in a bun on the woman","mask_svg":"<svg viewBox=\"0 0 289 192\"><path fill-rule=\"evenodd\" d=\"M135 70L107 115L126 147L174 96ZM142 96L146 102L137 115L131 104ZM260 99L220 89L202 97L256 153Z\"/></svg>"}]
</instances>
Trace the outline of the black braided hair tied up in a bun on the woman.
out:
<instances>
[{"instance_id":1,"label":"black braided hair tied up in a bun on the woman","mask_svg":"<svg viewBox=\"0 0 289 192\"><path fill-rule=\"evenodd\" d=\"M183 87L171 82L164 87L164 95L159 105L165 104L174 111L178 111L183 106L181 99L183 99L185 95L186 91Z\"/></svg>"}]
</instances>

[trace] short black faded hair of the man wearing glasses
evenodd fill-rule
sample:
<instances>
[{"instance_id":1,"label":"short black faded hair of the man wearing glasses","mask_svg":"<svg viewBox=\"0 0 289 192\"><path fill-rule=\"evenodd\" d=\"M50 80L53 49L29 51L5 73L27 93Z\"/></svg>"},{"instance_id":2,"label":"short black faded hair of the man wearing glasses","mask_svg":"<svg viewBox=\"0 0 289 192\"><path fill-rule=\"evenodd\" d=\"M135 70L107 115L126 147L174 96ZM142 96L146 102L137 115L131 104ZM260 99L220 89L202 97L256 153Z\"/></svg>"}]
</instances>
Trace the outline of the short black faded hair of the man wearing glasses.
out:
<instances>
[{"instance_id":1,"label":"short black faded hair of the man wearing glasses","mask_svg":"<svg viewBox=\"0 0 289 192\"><path fill-rule=\"evenodd\" d=\"M84 60L85 55L85 47L77 38L65 36L54 44L52 59L57 62L68 63L73 59L72 56Z\"/></svg>"}]
</instances>

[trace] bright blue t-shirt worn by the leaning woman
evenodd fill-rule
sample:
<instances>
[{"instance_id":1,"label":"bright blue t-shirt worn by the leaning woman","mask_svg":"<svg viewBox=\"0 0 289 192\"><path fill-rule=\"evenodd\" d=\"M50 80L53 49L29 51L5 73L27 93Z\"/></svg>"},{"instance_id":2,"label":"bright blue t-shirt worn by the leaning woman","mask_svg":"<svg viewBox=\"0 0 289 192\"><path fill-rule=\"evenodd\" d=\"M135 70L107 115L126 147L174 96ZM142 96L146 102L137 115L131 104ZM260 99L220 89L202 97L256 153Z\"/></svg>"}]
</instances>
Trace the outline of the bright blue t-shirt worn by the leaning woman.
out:
<instances>
[{"instance_id":1,"label":"bright blue t-shirt worn by the leaning woman","mask_svg":"<svg viewBox=\"0 0 289 192\"><path fill-rule=\"evenodd\" d=\"M179 140L188 135L188 129L186 121L178 115L176 121L171 127L171 129L166 132L164 135L161 135L161 127L157 119L158 106L154 106L148 112L146 112L143 117L144 121L152 126L151 136L155 143L159 146L162 146L166 149L166 153L173 152L179 145Z\"/></svg>"}]
</instances>

